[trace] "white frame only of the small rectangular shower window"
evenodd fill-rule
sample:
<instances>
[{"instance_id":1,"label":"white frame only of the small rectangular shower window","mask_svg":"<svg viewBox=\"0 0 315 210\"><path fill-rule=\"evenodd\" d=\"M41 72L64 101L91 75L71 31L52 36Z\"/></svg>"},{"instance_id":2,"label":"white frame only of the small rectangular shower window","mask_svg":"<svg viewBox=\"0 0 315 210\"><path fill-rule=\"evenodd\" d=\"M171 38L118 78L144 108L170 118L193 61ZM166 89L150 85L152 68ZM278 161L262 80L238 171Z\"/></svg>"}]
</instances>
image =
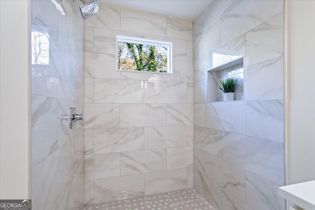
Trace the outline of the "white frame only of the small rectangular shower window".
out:
<instances>
[{"instance_id":1,"label":"white frame only of the small rectangular shower window","mask_svg":"<svg viewBox=\"0 0 315 210\"><path fill-rule=\"evenodd\" d=\"M138 70L124 70L118 68L118 42L128 42L134 44L145 44L153 45L158 47L167 48L167 72L158 72L158 71L138 71ZM116 52L115 52L115 70L116 71L125 71L125 72L144 72L144 73L154 73L154 74L173 74L173 42L170 41L160 41L146 39L142 37L133 37L126 35L116 35Z\"/></svg>"}]
</instances>

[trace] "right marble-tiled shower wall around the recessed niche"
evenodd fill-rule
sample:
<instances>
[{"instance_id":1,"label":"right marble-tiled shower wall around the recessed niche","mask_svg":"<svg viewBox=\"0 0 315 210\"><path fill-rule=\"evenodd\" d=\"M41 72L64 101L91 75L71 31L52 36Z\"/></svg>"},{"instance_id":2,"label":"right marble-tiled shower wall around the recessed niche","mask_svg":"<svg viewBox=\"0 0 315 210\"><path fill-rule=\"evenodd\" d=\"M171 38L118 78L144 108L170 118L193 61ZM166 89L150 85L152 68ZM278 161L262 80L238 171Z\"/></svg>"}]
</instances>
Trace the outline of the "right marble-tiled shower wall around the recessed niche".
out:
<instances>
[{"instance_id":1,"label":"right marble-tiled shower wall around the recessed niche","mask_svg":"<svg viewBox=\"0 0 315 210\"><path fill-rule=\"evenodd\" d=\"M284 210L283 17L283 0L220 0L193 22L193 187L217 210ZM241 101L207 103L218 55L244 57Z\"/></svg>"}]
</instances>

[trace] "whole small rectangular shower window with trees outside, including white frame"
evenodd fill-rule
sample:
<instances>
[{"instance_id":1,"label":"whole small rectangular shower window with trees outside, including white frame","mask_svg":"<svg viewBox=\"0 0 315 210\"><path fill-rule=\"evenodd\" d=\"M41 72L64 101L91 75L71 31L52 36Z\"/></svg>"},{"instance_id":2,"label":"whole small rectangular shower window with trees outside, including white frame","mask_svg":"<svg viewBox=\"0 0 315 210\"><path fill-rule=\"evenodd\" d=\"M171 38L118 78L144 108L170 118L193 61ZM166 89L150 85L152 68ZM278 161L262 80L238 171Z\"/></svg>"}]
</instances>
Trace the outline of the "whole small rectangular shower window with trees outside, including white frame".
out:
<instances>
[{"instance_id":1,"label":"whole small rectangular shower window with trees outside, including white frame","mask_svg":"<svg viewBox=\"0 0 315 210\"><path fill-rule=\"evenodd\" d=\"M116 36L116 69L172 73L171 42Z\"/></svg>"}]
</instances>

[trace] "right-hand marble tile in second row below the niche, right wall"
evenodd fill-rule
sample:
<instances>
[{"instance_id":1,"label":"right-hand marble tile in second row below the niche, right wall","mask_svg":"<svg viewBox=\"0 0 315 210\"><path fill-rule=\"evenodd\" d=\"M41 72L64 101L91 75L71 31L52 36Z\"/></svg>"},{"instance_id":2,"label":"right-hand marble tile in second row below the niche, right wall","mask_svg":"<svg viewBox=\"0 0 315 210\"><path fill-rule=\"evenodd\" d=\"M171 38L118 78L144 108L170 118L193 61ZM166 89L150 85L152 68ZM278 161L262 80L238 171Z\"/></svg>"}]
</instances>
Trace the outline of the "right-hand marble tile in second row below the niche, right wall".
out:
<instances>
[{"instance_id":1,"label":"right-hand marble tile in second row below the niche, right wall","mask_svg":"<svg viewBox=\"0 0 315 210\"><path fill-rule=\"evenodd\" d=\"M284 184L284 144L233 133L222 138L222 159Z\"/></svg>"}]
</instances>

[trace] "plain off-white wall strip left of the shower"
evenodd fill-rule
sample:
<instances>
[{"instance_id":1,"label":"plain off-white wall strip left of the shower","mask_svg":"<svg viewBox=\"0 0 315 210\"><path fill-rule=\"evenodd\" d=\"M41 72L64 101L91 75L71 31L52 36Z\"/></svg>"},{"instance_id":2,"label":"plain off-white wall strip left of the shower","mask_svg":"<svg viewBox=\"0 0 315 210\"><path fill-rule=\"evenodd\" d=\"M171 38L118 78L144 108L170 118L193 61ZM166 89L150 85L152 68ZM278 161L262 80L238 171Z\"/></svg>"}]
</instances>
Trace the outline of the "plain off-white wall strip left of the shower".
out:
<instances>
[{"instance_id":1,"label":"plain off-white wall strip left of the shower","mask_svg":"<svg viewBox=\"0 0 315 210\"><path fill-rule=\"evenodd\" d=\"M30 199L30 1L0 9L0 199Z\"/></svg>"}]
</instances>

